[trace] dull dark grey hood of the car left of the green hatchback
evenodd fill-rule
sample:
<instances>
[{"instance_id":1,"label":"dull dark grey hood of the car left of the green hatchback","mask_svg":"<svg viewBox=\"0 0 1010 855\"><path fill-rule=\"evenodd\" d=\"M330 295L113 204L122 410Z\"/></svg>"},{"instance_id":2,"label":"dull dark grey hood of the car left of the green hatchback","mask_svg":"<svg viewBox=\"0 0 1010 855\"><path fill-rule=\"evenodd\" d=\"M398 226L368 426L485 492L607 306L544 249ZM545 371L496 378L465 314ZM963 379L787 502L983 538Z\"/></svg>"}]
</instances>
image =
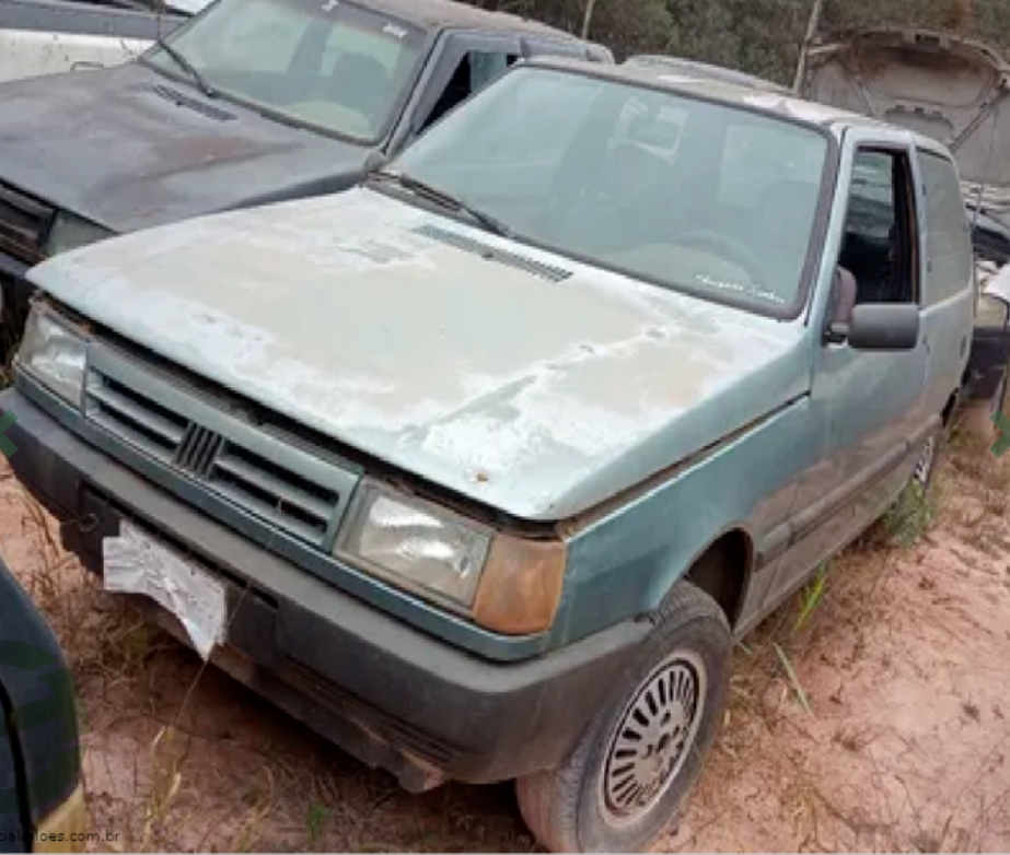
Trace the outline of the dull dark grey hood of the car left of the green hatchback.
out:
<instances>
[{"instance_id":1,"label":"dull dark grey hood of the car left of the green hatchback","mask_svg":"<svg viewBox=\"0 0 1010 855\"><path fill-rule=\"evenodd\" d=\"M0 183L118 233L344 189L368 156L132 62L7 83L0 116Z\"/></svg>"}]
</instances>

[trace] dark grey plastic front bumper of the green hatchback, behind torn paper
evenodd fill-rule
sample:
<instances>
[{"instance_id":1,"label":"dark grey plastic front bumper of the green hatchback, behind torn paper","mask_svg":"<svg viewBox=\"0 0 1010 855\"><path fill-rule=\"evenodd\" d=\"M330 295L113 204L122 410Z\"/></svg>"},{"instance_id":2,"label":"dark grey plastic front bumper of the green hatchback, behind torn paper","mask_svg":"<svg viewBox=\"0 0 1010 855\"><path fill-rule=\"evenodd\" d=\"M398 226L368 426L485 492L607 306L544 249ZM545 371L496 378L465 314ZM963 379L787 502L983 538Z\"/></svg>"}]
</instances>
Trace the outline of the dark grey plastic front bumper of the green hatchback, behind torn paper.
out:
<instances>
[{"instance_id":1,"label":"dark grey plastic front bumper of the green hatchback, behind torn paper","mask_svg":"<svg viewBox=\"0 0 1010 855\"><path fill-rule=\"evenodd\" d=\"M480 659L260 549L14 389L0 394L8 411L16 417L5 434L18 447L11 466L61 520L67 549L101 572L102 539L129 518L199 559L229 587L228 643L216 661L408 789L556 765L648 632L632 621L532 660Z\"/></svg>"}]
</instances>

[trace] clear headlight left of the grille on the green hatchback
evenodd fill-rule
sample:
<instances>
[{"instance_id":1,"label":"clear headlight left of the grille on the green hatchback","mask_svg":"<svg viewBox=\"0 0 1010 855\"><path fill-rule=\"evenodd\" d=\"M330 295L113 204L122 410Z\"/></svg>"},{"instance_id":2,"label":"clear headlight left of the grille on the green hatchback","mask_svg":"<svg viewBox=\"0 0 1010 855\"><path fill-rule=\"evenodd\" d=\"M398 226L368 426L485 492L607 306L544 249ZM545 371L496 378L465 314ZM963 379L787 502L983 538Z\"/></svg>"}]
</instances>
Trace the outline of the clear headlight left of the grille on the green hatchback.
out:
<instances>
[{"instance_id":1,"label":"clear headlight left of the grille on the green hatchback","mask_svg":"<svg viewBox=\"0 0 1010 855\"><path fill-rule=\"evenodd\" d=\"M33 306L18 351L18 364L74 407L84 387L86 342L53 313Z\"/></svg>"}]
</instances>

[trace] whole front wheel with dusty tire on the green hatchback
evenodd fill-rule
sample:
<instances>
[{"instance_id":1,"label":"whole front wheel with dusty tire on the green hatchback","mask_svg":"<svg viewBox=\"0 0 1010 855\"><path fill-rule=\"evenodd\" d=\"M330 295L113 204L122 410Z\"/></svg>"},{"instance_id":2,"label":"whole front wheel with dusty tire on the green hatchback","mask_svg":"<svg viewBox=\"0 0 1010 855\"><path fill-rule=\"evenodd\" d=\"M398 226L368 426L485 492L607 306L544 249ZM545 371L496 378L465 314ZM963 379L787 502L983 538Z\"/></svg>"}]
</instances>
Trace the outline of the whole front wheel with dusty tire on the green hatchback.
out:
<instances>
[{"instance_id":1,"label":"whole front wheel with dusty tire on the green hatchback","mask_svg":"<svg viewBox=\"0 0 1010 855\"><path fill-rule=\"evenodd\" d=\"M684 582L653 622L638 659L568 760L516 782L526 825L553 852L647 848L675 819L701 771L722 721L732 633L718 604ZM636 768L631 745L660 751L646 757L639 749ZM655 789L635 799L643 781Z\"/></svg>"}]
</instances>

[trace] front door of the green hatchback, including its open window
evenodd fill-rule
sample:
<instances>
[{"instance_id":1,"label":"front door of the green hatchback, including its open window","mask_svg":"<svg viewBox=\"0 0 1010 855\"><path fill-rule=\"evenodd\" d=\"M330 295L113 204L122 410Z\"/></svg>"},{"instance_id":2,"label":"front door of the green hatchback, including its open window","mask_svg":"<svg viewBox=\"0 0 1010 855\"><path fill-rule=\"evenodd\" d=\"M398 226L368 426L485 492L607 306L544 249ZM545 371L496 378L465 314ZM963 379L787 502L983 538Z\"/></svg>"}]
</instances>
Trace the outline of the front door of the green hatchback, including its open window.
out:
<instances>
[{"instance_id":1,"label":"front door of the green hatchback, including its open window","mask_svg":"<svg viewBox=\"0 0 1010 855\"><path fill-rule=\"evenodd\" d=\"M847 201L836 226L843 230L837 265L856 277L857 303L918 304L921 249L908 134L849 130L840 176ZM825 432L824 455L800 481L770 599L793 589L894 500L910 470L909 437L925 418L926 336L912 351L857 351L826 335L834 300L815 305L810 411Z\"/></svg>"}]
</instances>

